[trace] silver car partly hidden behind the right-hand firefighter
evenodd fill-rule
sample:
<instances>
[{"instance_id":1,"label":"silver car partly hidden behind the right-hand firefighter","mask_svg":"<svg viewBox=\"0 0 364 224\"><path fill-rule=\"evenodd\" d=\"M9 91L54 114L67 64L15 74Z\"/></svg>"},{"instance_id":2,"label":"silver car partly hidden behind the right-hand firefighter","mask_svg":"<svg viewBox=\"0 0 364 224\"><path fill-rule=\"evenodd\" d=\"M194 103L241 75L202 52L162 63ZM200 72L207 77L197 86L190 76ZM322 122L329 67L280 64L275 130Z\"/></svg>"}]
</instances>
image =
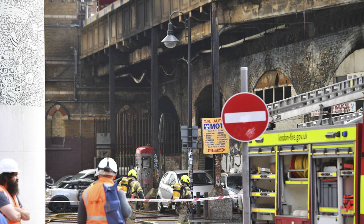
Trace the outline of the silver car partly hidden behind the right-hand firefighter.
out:
<instances>
[{"instance_id":1,"label":"silver car partly hidden behind the right-hand firefighter","mask_svg":"<svg viewBox=\"0 0 364 224\"><path fill-rule=\"evenodd\" d=\"M175 170L166 172L158 187L157 199L171 199L173 195L173 185L181 183L179 180L182 175L188 175L188 170ZM196 192L201 192L203 197L204 192L210 192L214 187L214 181L205 171L194 170L193 171L193 197L196 197ZM196 202L194 202L196 204ZM158 203L159 212L165 212L169 202ZM174 208L174 205L172 206ZM201 201L201 207L203 207L203 201Z\"/></svg>"}]
</instances>

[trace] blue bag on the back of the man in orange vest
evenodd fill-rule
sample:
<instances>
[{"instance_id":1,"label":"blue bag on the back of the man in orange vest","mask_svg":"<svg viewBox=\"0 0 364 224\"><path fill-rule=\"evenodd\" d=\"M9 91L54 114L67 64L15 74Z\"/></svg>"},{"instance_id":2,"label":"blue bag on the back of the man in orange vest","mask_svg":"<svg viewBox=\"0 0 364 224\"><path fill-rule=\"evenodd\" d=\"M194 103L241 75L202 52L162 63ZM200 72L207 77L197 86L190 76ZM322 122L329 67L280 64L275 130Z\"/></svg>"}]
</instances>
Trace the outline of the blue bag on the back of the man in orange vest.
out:
<instances>
[{"instance_id":1,"label":"blue bag on the back of the man in orange vest","mask_svg":"<svg viewBox=\"0 0 364 224\"><path fill-rule=\"evenodd\" d=\"M104 205L106 219L108 223L124 224L125 220L121 211L120 198L118 194L118 184L112 186L103 184L105 190L106 203Z\"/></svg>"}]
</instances>

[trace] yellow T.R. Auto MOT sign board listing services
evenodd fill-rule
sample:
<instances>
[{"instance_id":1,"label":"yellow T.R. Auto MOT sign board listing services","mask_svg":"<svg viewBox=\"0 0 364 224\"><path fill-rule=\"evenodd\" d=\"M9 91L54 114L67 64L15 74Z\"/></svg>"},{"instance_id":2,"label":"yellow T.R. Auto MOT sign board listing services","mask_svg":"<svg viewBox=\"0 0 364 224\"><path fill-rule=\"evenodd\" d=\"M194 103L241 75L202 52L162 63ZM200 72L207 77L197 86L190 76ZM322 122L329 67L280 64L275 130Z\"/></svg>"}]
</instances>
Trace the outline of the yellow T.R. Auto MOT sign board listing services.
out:
<instances>
[{"instance_id":1,"label":"yellow T.R. Auto MOT sign board listing services","mask_svg":"<svg viewBox=\"0 0 364 224\"><path fill-rule=\"evenodd\" d=\"M221 117L202 118L203 154L229 153L229 135L222 127Z\"/></svg>"}]
</instances>

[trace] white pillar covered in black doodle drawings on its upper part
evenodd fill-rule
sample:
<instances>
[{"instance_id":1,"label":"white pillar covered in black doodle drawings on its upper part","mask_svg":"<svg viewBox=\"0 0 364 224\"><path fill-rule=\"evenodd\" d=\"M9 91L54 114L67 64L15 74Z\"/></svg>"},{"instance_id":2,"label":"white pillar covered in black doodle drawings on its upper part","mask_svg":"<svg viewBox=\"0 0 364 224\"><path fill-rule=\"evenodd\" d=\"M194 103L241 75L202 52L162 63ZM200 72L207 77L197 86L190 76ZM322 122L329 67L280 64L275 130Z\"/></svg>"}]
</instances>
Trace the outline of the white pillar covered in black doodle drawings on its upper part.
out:
<instances>
[{"instance_id":1,"label":"white pillar covered in black doodle drawings on its upper part","mask_svg":"<svg viewBox=\"0 0 364 224\"><path fill-rule=\"evenodd\" d=\"M0 1L0 159L15 159L22 171L25 223L44 220L44 107L43 0Z\"/></svg>"}]
</instances>

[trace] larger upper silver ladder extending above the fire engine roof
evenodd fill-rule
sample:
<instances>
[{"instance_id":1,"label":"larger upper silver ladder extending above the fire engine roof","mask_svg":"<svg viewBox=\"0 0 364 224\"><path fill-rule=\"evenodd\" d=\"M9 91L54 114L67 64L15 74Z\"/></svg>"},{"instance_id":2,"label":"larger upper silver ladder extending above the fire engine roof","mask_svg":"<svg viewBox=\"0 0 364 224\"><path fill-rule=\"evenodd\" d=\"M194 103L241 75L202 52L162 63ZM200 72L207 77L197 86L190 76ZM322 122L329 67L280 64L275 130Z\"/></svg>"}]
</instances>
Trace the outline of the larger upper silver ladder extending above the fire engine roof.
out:
<instances>
[{"instance_id":1,"label":"larger upper silver ladder extending above the fire engine roof","mask_svg":"<svg viewBox=\"0 0 364 224\"><path fill-rule=\"evenodd\" d=\"M321 125L323 123L322 115L325 114L325 110L328 111L328 107L363 99L363 92L364 76L359 76L284 100L276 101L267 104L270 123L320 110L321 121L319 119L317 121L319 124L317 125ZM326 114L329 115L329 118L332 118L331 114ZM333 124L333 121L329 121L329 124Z\"/></svg>"}]
</instances>

